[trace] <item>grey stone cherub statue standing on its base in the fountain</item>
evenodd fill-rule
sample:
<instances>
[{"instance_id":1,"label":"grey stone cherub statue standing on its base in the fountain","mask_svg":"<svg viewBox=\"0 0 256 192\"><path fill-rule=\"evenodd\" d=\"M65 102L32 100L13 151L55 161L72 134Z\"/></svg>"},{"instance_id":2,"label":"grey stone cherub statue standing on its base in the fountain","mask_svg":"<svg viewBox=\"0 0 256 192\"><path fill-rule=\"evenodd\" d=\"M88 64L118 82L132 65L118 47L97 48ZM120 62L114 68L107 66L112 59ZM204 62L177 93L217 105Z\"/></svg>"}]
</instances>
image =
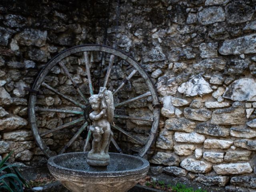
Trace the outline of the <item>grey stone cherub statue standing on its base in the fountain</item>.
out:
<instances>
[{"instance_id":1,"label":"grey stone cherub statue standing on its base in the fountain","mask_svg":"<svg viewBox=\"0 0 256 192\"><path fill-rule=\"evenodd\" d=\"M92 149L88 153L87 163L90 166L107 166L110 162L108 148L113 133L110 123L114 118L114 100L111 91L100 87L99 93L89 98L93 112L89 114L93 125L90 131L93 135Z\"/></svg>"}]
</instances>

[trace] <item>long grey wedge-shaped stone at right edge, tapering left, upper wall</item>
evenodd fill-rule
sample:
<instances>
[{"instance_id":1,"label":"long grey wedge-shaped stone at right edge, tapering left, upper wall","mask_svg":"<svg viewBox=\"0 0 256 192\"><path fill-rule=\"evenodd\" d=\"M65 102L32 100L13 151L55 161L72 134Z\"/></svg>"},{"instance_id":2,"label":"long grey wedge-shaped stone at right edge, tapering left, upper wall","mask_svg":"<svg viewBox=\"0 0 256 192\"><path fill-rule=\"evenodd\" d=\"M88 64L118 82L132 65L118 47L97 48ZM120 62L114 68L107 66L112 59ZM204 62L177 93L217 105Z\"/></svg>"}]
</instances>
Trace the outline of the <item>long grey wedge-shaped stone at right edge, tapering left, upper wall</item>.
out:
<instances>
[{"instance_id":1,"label":"long grey wedge-shaped stone at right edge, tapering left, upper wall","mask_svg":"<svg viewBox=\"0 0 256 192\"><path fill-rule=\"evenodd\" d=\"M236 39L225 40L219 49L222 55L239 55L256 53L256 34L250 34Z\"/></svg>"}]
</instances>

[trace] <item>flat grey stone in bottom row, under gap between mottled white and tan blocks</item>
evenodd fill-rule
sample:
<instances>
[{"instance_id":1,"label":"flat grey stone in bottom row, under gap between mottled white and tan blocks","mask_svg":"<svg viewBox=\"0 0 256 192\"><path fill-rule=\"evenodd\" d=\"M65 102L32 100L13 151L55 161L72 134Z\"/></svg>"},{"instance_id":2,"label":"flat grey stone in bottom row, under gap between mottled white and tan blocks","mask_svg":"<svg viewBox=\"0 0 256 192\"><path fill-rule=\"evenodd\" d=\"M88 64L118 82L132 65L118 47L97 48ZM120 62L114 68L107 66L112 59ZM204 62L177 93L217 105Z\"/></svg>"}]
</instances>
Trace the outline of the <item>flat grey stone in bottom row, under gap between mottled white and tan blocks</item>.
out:
<instances>
[{"instance_id":1,"label":"flat grey stone in bottom row, under gap between mottled white and tan blocks","mask_svg":"<svg viewBox=\"0 0 256 192\"><path fill-rule=\"evenodd\" d=\"M225 186L228 183L229 177L227 176L199 176L195 179L196 181L206 186Z\"/></svg>"}]
</instances>

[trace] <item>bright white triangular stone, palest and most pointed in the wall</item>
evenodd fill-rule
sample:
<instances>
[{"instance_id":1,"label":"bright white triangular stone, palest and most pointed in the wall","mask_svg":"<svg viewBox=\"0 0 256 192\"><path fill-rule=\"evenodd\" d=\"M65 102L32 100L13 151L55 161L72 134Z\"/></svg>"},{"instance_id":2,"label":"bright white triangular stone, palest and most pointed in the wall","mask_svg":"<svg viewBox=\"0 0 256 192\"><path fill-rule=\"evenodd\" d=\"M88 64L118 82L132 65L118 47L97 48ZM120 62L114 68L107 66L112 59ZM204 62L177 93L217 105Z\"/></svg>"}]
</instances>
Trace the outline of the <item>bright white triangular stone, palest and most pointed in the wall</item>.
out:
<instances>
[{"instance_id":1,"label":"bright white triangular stone, palest and most pointed in the wall","mask_svg":"<svg viewBox=\"0 0 256 192\"><path fill-rule=\"evenodd\" d=\"M204 95L212 92L210 84L198 75L190 79L188 82L182 83L178 92L184 93L186 96Z\"/></svg>"}]
</instances>

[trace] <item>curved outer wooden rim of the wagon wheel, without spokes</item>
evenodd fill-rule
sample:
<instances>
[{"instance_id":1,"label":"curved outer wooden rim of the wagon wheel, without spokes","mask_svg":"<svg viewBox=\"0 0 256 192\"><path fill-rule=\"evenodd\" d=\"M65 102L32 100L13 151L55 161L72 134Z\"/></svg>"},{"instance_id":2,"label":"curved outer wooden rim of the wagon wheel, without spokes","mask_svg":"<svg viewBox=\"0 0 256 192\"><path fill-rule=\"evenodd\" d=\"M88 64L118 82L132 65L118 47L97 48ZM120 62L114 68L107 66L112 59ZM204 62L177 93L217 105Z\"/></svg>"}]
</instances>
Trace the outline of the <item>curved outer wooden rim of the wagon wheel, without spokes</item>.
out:
<instances>
[{"instance_id":1,"label":"curved outer wooden rim of the wagon wheel, without spokes","mask_svg":"<svg viewBox=\"0 0 256 192\"><path fill-rule=\"evenodd\" d=\"M54 58L52 58L46 64L44 69L42 69L40 71L40 73L38 74L38 76L33 84L32 89L39 92L40 87L42 86L42 83L44 81L44 78L47 76L47 74L50 73L50 70L54 66L59 64L59 62L61 62L64 58L66 58L72 54L79 53L79 52L84 52L84 53L85 52L87 52L87 53L88 52L104 52L106 54L111 54L111 55L117 56L117 57L121 58L122 60L126 61L132 67L134 67L135 70L137 70L137 72L140 74L140 76L146 82L146 85L148 86L148 89L150 91L150 96L152 97L152 105L154 107L153 107L153 112L152 112L153 113L153 122L152 122L152 127L150 130L150 134L148 136L148 139L146 140L146 143L144 143L144 146L142 146L141 150L138 152L138 156L143 157L146 154L146 152L149 150L152 143L154 142L156 132L158 130L159 119L160 119L159 100L158 100L156 88L154 87L154 84L152 83L152 80L150 79L147 72L132 57L128 56L124 52L121 52L120 50L116 50L116 49L108 47L108 46L101 46L101 45L97 45L97 44L80 45L80 46L75 46L75 47L69 48L67 50L64 50L63 52L59 53ZM44 86L46 86L46 85L44 85ZM149 96L149 94L147 94L147 96ZM34 135L37 145L44 152L44 154L49 158L50 156L52 156L52 152L49 150L49 148L44 143L42 137L39 134L38 127L36 124L36 99L37 99L36 94L31 93L30 99L29 99L29 109L28 109L30 126L31 126L32 133ZM84 123L83 126L84 126L84 128L86 128L86 126L87 126L86 123ZM82 129L80 129L80 130L82 130ZM78 136L79 136L79 134L78 134Z\"/></svg>"}]
</instances>

